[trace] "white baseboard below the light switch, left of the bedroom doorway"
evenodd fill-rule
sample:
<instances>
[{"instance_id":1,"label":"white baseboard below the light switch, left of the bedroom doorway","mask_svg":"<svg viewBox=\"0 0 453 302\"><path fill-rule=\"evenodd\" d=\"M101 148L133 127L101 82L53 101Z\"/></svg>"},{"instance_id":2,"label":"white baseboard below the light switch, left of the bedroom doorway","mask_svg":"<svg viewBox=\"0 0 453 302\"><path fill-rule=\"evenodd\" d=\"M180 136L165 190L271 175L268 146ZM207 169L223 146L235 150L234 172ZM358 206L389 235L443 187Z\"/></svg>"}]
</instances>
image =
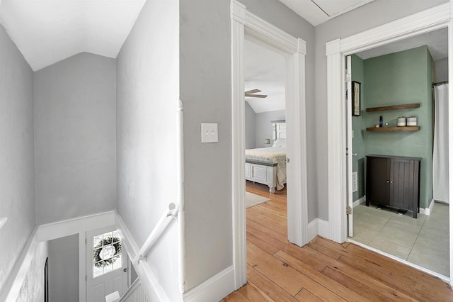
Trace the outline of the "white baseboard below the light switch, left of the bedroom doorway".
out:
<instances>
[{"instance_id":1,"label":"white baseboard below the light switch, left of the bedroom doorway","mask_svg":"<svg viewBox=\"0 0 453 302\"><path fill-rule=\"evenodd\" d=\"M234 267L228 267L200 285L183 294L183 301L220 301L234 291Z\"/></svg>"}]
</instances>

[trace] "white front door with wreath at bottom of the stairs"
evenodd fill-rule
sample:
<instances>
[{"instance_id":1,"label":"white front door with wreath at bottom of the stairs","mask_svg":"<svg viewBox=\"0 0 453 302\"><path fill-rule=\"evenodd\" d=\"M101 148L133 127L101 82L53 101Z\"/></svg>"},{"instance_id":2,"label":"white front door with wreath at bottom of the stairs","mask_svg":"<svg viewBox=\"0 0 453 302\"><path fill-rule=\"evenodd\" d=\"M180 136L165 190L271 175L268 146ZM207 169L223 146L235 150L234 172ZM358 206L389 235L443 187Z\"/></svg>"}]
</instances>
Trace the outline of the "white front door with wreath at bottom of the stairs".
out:
<instances>
[{"instance_id":1,"label":"white front door with wreath at bottom of the stairs","mask_svg":"<svg viewBox=\"0 0 453 302\"><path fill-rule=\"evenodd\" d=\"M123 254L124 253L124 254ZM114 226L86 232L86 301L104 302L105 296L127 290L127 255Z\"/></svg>"}]
</instances>

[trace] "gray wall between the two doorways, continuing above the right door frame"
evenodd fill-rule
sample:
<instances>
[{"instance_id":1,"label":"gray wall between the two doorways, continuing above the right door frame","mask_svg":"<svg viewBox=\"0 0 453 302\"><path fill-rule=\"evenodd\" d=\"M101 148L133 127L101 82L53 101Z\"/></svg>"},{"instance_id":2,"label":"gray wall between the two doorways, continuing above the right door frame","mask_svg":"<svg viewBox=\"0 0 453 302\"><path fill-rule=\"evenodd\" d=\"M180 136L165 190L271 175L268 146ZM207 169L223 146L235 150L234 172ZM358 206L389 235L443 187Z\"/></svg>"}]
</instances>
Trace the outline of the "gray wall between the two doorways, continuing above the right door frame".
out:
<instances>
[{"instance_id":1,"label":"gray wall between the two doorways, continuing above the right door frame","mask_svg":"<svg viewBox=\"0 0 453 302\"><path fill-rule=\"evenodd\" d=\"M328 220L326 43L445 2L445 0L376 0L316 26L316 74L314 77L316 79L316 99L314 100L316 115L313 117L313 121L316 123L314 123L313 129L316 133L316 181L318 184L316 200L318 201L319 218Z\"/></svg>"}]
</instances>

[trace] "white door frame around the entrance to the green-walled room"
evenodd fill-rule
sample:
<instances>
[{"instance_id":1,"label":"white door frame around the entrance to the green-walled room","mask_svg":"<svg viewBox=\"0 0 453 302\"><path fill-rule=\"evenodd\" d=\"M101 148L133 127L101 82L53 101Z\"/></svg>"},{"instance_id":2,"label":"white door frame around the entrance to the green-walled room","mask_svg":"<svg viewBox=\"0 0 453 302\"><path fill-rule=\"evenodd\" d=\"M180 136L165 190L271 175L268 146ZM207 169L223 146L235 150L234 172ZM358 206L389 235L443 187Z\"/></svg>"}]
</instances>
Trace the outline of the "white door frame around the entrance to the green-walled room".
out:
<instances>
[{"instance_id":1,"label":"white door frame around the entrance to the green-walled room","mask_svg":"<svg viewBox=\"0 0 453 302\"><path fill-rule=\"evenodd\" d=\"M411 16L365 30L347 38L326 43L327 56L327 121L328 121L328 221L329 239L345 242L347 238L345 207L347 199L346 133L343 100L345 96L345 56L368 50L397 40L448 27L448 55L453 58L453 0ZM453 79L453 60L448 60L449 79ZM449 83L450 91L452 84ZM453 102L453 94L449 94ZM341 114L338 114L341 113ZM453 158L453 106L449 108L449 157ZM453 175L453 160L449 161ZM338 181L341 179L341 181ZM449 198L453 200L453 177L449 181ZM453 207L449 207L450 276L453 274ZM452 284L453 278L450 278ZM453 285L453 284L452 284Z\"/></svg>"}]
</instances>

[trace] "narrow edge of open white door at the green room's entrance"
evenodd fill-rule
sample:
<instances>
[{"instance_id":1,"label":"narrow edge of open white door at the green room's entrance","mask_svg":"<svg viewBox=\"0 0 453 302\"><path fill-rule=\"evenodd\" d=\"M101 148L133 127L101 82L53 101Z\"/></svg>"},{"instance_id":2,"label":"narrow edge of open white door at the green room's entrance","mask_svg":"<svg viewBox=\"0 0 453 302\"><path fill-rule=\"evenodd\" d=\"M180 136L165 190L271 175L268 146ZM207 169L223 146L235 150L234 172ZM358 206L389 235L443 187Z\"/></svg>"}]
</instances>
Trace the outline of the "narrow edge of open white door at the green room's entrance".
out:
<instances>
[{"instance_id":1,"label":"narrow edge of open white door at the green room's entrance","mask_svg":"<svg viewBox=\"0 0 453 302\"><path fill-rule=\"evenodd\" d=\"M351 56L346 57L346 154L347 154L347 181L348 181L348 236L352 237L352 76L351 76Z\"/></svg>"}]
</instances>

